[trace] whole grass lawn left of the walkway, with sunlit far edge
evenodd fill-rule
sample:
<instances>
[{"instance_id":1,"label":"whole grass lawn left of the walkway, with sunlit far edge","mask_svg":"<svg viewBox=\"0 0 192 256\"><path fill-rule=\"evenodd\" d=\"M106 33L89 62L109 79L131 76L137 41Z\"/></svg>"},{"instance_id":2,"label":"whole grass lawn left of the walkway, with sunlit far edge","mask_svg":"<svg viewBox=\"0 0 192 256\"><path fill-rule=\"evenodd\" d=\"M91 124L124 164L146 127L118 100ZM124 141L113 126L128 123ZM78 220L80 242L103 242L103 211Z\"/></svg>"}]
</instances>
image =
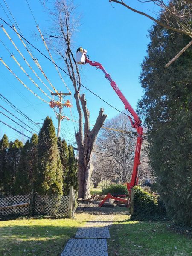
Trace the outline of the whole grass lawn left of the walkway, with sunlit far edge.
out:
<instances>
[{"instance_id":1,"label":"whole grass lawn left of the walkway, with sunlit far edge","mask_svg":"<svg viewBox=\"0 0 192 256\"><path fill-rule=\"evenodd\" d=\"M0 222L0 255L57 256L84 220L18 219Z\"/></svg>"}]
</instances>

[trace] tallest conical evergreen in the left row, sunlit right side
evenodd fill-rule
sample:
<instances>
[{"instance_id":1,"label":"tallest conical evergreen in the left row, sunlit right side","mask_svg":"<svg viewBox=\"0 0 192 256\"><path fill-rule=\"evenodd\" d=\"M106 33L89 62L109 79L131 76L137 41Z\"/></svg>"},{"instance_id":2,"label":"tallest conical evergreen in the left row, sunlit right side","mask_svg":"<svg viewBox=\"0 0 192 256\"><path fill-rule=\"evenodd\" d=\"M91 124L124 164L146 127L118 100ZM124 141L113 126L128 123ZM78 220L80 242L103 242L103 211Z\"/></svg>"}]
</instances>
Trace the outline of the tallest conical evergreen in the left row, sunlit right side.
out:
<instances>
[{"instance_id":1,"label":"tallest conical evergreen in the left row, sunlit right side","mask_svg":"<svg viewBox=\"0 0 192 256\"><path fill-rule=\"evenodd\" d=\"M52 119L48 116L38 136L35 190L40 195L62 195L62 166Z\"/></svg>"}]
</instances>

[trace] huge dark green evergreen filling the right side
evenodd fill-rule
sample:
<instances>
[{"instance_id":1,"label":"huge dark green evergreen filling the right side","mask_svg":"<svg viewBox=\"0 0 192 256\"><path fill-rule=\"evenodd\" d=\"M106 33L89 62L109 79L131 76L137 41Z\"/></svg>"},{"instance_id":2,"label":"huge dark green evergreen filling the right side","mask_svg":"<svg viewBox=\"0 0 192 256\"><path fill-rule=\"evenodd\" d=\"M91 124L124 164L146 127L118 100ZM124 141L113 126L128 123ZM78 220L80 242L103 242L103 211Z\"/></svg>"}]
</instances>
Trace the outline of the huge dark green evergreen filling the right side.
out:
<instances>
[{"instance_id":1,"label":"huge dark green evergreen filling the right side","mask_svg":"<svg viewBox=\"0 0 192 256\"><path fill-rule=\"evenodd\" d=\"M192 209L192 47L168 69L164 65L189 43L186 35L156 25L140 81L139 103L148 131L151 167L166 211L177 224L191 225Z\"/></svg>"}]
</instances>

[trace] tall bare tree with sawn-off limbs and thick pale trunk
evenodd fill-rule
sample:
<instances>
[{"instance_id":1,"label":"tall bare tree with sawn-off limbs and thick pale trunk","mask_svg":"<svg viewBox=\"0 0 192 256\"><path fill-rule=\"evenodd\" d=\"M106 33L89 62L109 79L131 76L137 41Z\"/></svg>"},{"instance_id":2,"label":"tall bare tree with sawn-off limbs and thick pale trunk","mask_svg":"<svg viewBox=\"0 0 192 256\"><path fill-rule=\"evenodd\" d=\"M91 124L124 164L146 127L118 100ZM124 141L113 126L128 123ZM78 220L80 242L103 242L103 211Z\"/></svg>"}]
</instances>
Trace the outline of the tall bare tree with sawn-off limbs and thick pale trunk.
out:
<instances>
[{"instance_id":1,"label":"tall bare tree with sawn-off limbs and thick pale trunk","mask_svg":"<svg viewBox=\"0 0 192 256\"><path fill-rule=\"evenodd\" d=\"M67 4L67 2L69 2ZM87 108L87 101L85 95L81 94L81 77L79 66L76 64L73 52L72 41L74 33L77 29L77 20L79 17L75 15L76 10L72 1L56 0L54 12L54 27L52 33L45 34L48 40L52 39L52 47L61 56L66 64L67 71L70 75L70 80L74 87L74 98L76 102L77 111L79 114L79 130L76 131L76 142L78 147L78 183L79 198L90 197L90 177L91 177L91 158L96 137L100 128L102 127L106 115L103 114L103 108L100 108L99 115L96 119L94 127L90 130L89 118L90 112ZM49 41L50 42L50 41ZM84 124L83 124L84 118Z\"/></svg>"}]
</instances>

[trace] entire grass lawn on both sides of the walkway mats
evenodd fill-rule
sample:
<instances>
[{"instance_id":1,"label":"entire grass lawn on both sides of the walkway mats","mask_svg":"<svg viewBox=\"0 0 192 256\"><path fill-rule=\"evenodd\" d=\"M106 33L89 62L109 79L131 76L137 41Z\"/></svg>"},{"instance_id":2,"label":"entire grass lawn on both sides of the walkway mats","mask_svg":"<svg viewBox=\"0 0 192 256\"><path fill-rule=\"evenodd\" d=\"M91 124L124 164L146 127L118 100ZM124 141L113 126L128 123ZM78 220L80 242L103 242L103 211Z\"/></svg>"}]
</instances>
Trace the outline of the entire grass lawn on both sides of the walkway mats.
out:
<instances>
[{"instance_id":1,"label":"entire grass lawn on both sides of the walkway mats","mask_svg":"<svg viewBox=\"0 0 192 256\"><path fill-rule=\"evenodd\" d=\"M101 208L99 208L101 209ZM169 222L129 221L128 209L105 208L98 212L78 212L76 219L20 218L0 222L0 256L59 256L77 228L85 221L116 221L107 239L108 256L192 256L188 233L169 229Z\"/></svg>"}]
</instances>

